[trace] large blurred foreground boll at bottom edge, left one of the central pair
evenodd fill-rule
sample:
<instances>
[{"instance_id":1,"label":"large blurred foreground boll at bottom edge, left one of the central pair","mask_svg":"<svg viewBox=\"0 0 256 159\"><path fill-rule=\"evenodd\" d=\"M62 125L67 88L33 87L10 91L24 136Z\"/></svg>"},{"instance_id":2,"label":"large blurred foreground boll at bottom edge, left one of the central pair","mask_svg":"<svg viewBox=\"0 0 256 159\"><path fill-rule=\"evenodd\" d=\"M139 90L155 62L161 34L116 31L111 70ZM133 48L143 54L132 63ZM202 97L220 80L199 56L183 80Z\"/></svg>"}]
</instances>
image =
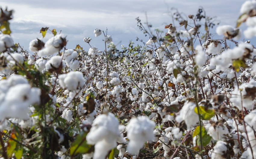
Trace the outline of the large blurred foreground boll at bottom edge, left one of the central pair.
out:
<instances>
[{"instance_id":1,"label":"large blurred foreground boll at bottom edge, left one of the central pair","mask_svg":"<svg viewBox=\"0 0 256 159\"><path fill-rule=\"evenodd\" d=\"M93 159L105 159L108 152L117 146L120 136L118 119L112 113L98 115L86 136L88 144L95 144Z\"/></svg>"}]
</instances>

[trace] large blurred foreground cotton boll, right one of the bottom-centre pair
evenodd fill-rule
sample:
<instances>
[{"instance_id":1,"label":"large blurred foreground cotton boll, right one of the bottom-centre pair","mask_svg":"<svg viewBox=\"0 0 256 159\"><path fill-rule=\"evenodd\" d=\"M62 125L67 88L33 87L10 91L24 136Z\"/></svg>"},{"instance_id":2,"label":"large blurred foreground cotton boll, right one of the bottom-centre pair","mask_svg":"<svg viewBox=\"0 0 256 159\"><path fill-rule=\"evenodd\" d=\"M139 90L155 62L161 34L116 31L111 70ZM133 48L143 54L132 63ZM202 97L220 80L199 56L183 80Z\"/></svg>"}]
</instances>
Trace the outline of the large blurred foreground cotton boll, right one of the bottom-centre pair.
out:
<instances>
[{"instance_id":1,"label":"large blurred foreground cotton boll, right one of the bottom-centre pair","mask_svg":"<svg viewBox=\"0 0 256 159\"><path fill-rule=\"evenodd\" d=\"M148 119L146 116L132 118L126 126L127 137L130 140L127 146L127 151L130 154L139 154L139 149L144 143L154 139L155 122Z\"/></svg>"}]
</instances>

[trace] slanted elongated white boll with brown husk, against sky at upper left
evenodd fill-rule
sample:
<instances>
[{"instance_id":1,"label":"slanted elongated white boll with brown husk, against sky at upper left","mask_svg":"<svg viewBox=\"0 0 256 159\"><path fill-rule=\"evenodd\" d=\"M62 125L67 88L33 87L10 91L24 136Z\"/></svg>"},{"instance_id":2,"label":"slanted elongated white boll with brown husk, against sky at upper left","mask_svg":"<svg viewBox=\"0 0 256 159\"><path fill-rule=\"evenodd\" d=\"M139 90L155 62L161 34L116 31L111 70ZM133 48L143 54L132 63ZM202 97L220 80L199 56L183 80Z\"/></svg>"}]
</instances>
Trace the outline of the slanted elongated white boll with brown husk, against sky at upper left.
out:
<instances>
[{"instance_id":1,"label":"slanted elongated white boll with brown husk, against sky at upper left","mask_svg":"<svg viewBox=\"0 0 256 159\"><path fill-rule=\"evenodd\" d=\"M62 34L55 35L45 43L45 47L39 50L37 55L39 57L53 55L59 52L64 46L66 46L66 44L67 44L67 40L64 35Z\"/></svg>"}]
</instances>

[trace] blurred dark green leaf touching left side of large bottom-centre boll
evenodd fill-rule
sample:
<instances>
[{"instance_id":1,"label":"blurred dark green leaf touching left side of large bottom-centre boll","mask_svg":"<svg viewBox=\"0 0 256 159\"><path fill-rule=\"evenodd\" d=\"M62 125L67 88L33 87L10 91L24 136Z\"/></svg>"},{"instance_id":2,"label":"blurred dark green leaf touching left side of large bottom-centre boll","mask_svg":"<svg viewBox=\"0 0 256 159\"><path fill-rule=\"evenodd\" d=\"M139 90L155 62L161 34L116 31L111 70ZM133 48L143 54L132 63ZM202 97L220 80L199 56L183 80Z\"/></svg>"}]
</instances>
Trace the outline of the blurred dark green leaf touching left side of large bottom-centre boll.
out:
<instances>
[{"instance_id":1,"label":"blurred dark green leaf touching left side of large bottom-centre boll","mask_svg":"<svg viewBox=\"0 0 256 159\"><path fill-rule=\"evenodd\" d=\"M87 135L87 133L83 133L83 132L81 134L77 135L76 141L74 141L70 147L71 155L78 154L78 153L85 154L85 153L92 152L94 147L92 145L87 144L86 135Z\"/></svg>"}]
</instances>

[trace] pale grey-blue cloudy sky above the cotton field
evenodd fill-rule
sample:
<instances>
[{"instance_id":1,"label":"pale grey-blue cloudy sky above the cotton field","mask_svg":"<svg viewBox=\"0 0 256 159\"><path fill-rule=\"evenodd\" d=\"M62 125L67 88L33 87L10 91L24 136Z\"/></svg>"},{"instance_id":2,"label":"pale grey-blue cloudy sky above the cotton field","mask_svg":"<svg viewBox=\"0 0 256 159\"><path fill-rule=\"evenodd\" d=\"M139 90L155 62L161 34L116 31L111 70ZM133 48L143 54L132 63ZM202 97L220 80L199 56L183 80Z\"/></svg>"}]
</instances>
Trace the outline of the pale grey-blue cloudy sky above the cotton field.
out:
<instances>
[{"instance_id":1,"label":"pale grey-blue cloudy sky above the cotton field","mask_svg":"<svg viewBox=\"0 0 256 159\"><path fill-rule=\"evenodd\" d=\"M14 10L11 36L25 49L31 40L42 39L39 33L42 27L49 27L67 35L68 49L80 44L89 50L89 45L83 41L85 37L92 38L92 46L104 48L103 35L95 37L93 34L97 28L108 28L108 35L119 47L121 44L127 46L136 37L147 41L148 37L139 30L135 18L139 16L144 23L147 17L153 31L156 28L164 30L164 25L173 22L170 16L172 8L178 9L185 17L196 14L201 6L208 16L217 17L216 23L235 26L243 3L244 0L1 0L0 6ZM52 36L48 31L43 41Z\"/></svg>"}]
</instances>

